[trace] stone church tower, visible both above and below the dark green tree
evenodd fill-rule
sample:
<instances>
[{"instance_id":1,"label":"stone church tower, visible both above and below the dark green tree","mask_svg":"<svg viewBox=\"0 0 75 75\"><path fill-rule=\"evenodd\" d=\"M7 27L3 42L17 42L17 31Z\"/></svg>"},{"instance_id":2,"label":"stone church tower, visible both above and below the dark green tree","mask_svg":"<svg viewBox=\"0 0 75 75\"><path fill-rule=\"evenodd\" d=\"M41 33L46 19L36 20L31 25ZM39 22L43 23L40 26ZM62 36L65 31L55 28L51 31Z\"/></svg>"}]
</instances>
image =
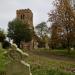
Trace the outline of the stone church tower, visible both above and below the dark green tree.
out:
<instances>
[{"instance_id":1,"label":"stone church tower, visible both above and below the dark green tree","mask_svg":"<svg viewBox=\"0 0 75 75\"><path fill-rule=\"evenodd\" d=\"M33 13L30 9L16 10L16 18L22 21L24 24L28 24L29 29L33 29ZM32 41L21 41L20 48L32 49L32 44Z\"/></svg>"}]
</instances>

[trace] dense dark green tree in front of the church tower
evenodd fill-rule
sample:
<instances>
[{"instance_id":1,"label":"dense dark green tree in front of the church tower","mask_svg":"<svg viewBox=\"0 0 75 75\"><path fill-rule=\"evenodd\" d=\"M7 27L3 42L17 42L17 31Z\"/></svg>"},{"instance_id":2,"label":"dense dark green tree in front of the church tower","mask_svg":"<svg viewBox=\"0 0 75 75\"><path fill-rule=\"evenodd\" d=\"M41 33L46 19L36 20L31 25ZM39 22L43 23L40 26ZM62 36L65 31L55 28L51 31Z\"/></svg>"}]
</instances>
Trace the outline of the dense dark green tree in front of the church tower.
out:
<instances>
[{"instance_id":1,"label":"dense dark green tree in front of the church tower","mask_svg":"<svg viewBox=\"0 0 75 75\"><path fill-rule=\"evenodd\" d=\"M23 24L20 20L15 19L8 23L8 37L20 47L22 41L32 40L32 29L29 29L28 24Z\"/></svg>"}]
</instances>

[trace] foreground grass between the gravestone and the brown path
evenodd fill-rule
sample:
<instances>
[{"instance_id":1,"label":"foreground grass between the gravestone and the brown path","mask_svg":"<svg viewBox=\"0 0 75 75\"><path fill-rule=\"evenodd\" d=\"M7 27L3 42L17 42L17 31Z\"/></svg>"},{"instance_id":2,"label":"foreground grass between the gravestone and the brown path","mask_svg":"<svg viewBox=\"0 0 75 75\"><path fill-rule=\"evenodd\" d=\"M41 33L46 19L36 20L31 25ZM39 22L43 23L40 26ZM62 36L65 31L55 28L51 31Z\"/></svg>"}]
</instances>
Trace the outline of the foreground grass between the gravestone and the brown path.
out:
<instances>
[{"instance_id":1,"label":"foreground grass between the gravestone and the brown path","mask_svg":"<svg viewBox=\"0 0 75 75\"><path fill-rule=\"evenodd\" d=\"M75 75L73 61L50 59L34 53L30 53L30 57L25 61L31 64L33 75Z\"/></svg>"}]
</instances>

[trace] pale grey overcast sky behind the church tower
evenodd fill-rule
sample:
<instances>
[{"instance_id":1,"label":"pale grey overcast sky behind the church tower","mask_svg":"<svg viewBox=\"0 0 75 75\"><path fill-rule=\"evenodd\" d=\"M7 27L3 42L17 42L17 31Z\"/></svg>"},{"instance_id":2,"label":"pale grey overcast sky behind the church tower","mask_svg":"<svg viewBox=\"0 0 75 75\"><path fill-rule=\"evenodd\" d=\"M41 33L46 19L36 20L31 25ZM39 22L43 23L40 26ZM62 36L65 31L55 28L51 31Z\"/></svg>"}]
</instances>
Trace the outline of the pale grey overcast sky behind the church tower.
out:
<instances>
[{"instance_id":1,"label":"pale grey overcast sky behind the church tower","mask_svg":"<svg viewBox=\"0 0 75 75\"><path fill-rule=\"evenodd\" d=\"M53 0L0 0L0 28L7 29L8 22L16 17L17 9L30 8L36 26L48 20L48 12L53 9Z\"/></svg>"}]
</instances>

